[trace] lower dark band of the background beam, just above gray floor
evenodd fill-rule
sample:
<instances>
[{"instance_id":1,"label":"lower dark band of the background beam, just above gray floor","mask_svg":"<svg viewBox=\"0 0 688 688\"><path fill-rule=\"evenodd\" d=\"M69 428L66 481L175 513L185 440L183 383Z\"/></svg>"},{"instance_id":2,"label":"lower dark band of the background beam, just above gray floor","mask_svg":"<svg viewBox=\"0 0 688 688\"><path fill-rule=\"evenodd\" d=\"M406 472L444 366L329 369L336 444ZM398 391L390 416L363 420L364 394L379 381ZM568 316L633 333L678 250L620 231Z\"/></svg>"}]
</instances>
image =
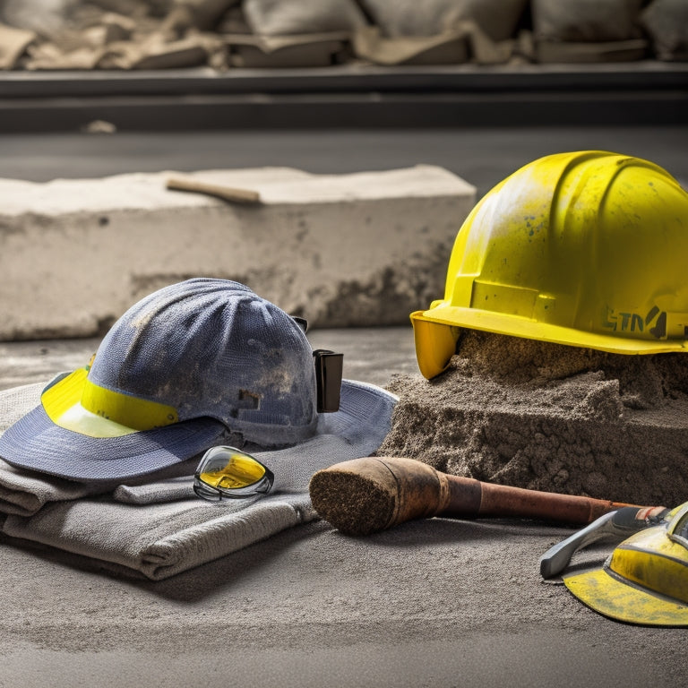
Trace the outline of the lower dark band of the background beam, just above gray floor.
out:
<instances>
[{"instance_id":1,"label":"lower dark band of the background beam, just above gray floor","mask_svg":"<svg viewBox=\"0 0 688 688\"><path fill-rule=\"evenodd\" d=\"M0 131L79 131L105 120L122 131L190 129L451 127L547 125L683 125L681 92L520 94L483 97L426 93L322 96L109 97L0 99Z\"/></svg>"}]
</instances>

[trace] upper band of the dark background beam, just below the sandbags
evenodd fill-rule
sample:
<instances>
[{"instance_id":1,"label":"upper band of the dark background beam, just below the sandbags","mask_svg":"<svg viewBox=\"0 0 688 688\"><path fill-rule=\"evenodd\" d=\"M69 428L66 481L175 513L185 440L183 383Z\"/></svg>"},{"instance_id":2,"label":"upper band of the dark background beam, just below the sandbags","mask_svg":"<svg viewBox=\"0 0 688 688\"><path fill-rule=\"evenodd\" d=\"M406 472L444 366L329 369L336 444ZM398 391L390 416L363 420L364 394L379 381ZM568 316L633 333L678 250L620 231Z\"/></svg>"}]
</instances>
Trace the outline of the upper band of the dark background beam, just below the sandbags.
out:
<instances>
[{"instance_id":1,"label":"upper band of the dark background beam, just below the sandbags","mask_svg":"<svg viewBox=\"0 0 688 688\"><path fill-rule=\"evenodd\" d=\"M208 67L155 72L5 72L0 98L246 93L485 92L688 89L688 64L523 64L379 67L342 64L308 69Z\"/></svg>"}]
</instances>

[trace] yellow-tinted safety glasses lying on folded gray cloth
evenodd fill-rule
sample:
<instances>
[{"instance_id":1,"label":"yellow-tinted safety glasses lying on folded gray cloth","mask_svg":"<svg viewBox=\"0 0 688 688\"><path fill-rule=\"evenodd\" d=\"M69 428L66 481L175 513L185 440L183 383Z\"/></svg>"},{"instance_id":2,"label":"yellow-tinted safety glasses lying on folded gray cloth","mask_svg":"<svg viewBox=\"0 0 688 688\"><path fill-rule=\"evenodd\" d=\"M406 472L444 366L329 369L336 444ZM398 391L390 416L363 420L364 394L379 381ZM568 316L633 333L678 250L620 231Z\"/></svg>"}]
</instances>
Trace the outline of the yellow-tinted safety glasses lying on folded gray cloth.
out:
<instances>
[{"instance_id":1,"label":"yellow-tinted safety glasses lying on folded gray cloth","mask_svg":"<svg viewBox=\"0 0 688 688\"><path fill-rule=\"evenodd\" d=\"M212 447L193 476L193 492L209 502L266 495L274 475L251 454L235 447Z\"/></svg>"}]
</instances>

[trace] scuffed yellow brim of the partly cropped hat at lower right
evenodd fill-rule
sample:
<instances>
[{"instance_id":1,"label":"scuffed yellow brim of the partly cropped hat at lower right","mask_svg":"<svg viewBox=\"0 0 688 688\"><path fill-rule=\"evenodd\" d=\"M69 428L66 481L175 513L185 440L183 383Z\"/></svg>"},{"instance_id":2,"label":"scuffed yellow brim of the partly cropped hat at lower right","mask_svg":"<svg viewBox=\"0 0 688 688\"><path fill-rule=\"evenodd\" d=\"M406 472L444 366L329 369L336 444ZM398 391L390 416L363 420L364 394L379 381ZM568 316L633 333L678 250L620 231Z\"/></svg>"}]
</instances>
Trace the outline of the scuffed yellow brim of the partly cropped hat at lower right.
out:
<instances>
[{"instance_id":1,"label":"scuffed yellow brim of the partly cropped hat at lower right","mask_svg":"<svg viewBox=\"0 0 688 688\"><path fill-rule=\"evenodd\" d=\"M563 583L585 605L617 621L688 626L688 605L652 593L607 569L565 576Z\"/></svg>"}]
</instances>

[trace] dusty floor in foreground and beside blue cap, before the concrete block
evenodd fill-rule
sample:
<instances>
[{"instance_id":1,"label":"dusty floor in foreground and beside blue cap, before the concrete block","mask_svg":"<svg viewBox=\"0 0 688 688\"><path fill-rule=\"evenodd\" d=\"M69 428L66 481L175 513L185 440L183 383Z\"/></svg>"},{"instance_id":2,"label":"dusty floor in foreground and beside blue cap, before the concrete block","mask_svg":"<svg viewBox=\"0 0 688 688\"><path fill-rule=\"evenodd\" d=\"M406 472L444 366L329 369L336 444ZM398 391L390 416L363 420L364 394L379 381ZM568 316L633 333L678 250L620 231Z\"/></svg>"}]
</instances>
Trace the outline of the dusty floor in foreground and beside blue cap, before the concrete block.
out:
<instances>
[{"instance_id":1,"label":"dusty floor in foreground and beside blue cap, before the concrete block","mask_svg":"<svg viewBox=\"0 0 688 688\"><path fill-rule=\"evenodd\" d=\"M416 374L410 328L310 336L344 351L348 377ZM95 343L0 344L0 387ZM4 542L0 686L685 684L684 630L617 624L540 579L539 556L571 532L428 520L357 539L320 521L157 583Z\"/></svg>"}]
</instances>

